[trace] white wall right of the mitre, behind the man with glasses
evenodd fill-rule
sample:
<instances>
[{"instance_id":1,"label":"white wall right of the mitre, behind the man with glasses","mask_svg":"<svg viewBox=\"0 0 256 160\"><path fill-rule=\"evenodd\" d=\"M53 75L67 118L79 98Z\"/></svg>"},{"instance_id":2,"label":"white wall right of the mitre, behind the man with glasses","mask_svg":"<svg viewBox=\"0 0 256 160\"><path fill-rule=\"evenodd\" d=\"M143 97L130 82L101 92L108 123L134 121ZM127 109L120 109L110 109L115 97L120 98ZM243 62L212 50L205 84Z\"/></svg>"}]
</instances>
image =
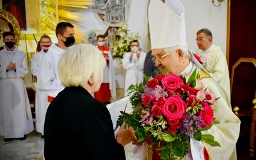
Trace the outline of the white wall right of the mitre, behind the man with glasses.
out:
<instances>
[{"instance_id":1,"label":"white wall right of the mitre, behind the man with glasses","mask_svg":"<svg viewBox=\"0 0 256 160\"><path fill-rule=\"evenodd\" d=\"M227 48L227 1L220 6L213 6L211 0L180 0L185 8L186 35L189 49L198 49L195 38L196 32L208 28L212 32L213 43L220 45L226 54ZM214 4L218 4L216 0Z\"/></svg>"}]
</instances>

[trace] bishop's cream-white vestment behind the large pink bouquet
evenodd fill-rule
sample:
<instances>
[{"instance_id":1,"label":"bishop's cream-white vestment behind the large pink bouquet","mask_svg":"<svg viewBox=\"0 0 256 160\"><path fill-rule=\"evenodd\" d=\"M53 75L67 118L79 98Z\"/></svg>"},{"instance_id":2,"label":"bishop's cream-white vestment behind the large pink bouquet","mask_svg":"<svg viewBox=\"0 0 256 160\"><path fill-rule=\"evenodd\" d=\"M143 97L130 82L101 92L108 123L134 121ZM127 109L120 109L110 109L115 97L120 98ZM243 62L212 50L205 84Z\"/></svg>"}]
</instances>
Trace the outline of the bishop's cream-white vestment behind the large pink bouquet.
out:
<instances>
[{"instance_id":1,"label":"bishop's cream-white vestment behind the large pink bouquet","mask_svg":"<svg viewBox=\"0 0 256 160\"><path fill-rule=\"evenodd\" d=\"M198 72L201 70L193 62L191 62L181 74L192 74L195 68ZM211 147L210 145L205 144L206 150L209 152L210 159L235 160L236 142L238 140L240 131L240 120L232 112L231 106L228 103L229 99L225 95L225 90L220 87L220 84L218 84L212 77L204 77L201 80L209 93L213 93L216 98L220 97L220 99L217 100L217 105L213 107L214 118L216 118L216 121L209 130L204 131L202 134L211 134L214 136L214 140L218 141L221 147ZM199 146L204 148L202 142L199 143L201 144ZM198 151L200 150L200 147L193 149ZM198 158L193 157L193 159Z\"/></svg>"}]
</instances>

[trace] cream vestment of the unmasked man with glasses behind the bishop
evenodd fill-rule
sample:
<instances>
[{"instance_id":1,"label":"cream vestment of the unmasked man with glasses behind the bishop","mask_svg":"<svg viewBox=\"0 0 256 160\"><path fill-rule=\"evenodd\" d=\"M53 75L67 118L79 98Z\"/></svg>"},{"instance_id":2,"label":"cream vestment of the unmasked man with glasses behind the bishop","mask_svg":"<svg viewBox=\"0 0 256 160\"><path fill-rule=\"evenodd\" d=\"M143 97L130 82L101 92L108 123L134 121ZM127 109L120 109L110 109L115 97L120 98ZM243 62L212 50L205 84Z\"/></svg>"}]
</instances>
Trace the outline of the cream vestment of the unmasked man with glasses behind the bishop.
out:
<instances>
[{"instance_id":1,"label":"cream vestment of the unmasked man with glasses behind the bishop","mask_svg":"<svg viewBox=\"0 0 256 160\"><path fill-rule=\"evenodd\" d=\"M196 53L200 57L206 58L205 69L224 89L224 93L230 101L230 81L228 72L228 63L224 53L219 46L214 44L206 51L200 50Z\"/></svg>"}]
</instances>

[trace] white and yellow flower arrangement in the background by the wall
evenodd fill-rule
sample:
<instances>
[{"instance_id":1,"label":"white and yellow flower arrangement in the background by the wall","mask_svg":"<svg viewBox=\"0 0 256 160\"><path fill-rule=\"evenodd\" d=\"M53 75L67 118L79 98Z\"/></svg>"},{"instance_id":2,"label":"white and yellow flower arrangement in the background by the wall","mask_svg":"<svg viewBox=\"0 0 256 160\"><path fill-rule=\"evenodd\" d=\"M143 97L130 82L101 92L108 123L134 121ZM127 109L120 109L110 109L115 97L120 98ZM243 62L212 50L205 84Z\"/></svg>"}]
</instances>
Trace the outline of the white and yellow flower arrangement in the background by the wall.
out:
<instances>
[{"instance_id":1,"label":"white and yellow flower arrangement in the background by the wall","mask_svg":"<svg viewBox=\"0 0 256 160\"><path fill-rule=\"evenodd\" d=\"M126 21L118 29L120 38L116 39L113 45L110 46L113 58L123 58L126 52L131 51L130 44L132 40L140 39L138 33L129 33L128 24Z\"/></svg>"}]
</instances>

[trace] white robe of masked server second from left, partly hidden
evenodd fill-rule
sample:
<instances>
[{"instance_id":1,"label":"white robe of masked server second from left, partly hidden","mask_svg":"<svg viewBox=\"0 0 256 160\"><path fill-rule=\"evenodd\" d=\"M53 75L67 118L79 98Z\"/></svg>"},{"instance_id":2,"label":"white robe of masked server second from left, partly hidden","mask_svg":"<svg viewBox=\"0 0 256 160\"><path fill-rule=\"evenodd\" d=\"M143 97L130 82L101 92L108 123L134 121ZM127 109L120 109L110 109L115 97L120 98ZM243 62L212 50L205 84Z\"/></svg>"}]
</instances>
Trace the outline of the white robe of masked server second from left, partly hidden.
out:
<instances>
[{"instance_id":1,"label":"white robe of masked server second from left, partly hidden","mask_svg":"<svg viewBox=\"0 0 256 160\"><path fill-rule=\"evenodd\" d=\"M39 72L39 65L44 55L47 52L44 52L42 49L40 52L36 52L31 60L31 73L38 77L41 73ZM44 134L44 120L45 113L47 111L47 106L49 106L50 102L47 100L47 95L45 93L40 92L39 88L36 87L36 131Z\"/></svg>"}]
</instances>

